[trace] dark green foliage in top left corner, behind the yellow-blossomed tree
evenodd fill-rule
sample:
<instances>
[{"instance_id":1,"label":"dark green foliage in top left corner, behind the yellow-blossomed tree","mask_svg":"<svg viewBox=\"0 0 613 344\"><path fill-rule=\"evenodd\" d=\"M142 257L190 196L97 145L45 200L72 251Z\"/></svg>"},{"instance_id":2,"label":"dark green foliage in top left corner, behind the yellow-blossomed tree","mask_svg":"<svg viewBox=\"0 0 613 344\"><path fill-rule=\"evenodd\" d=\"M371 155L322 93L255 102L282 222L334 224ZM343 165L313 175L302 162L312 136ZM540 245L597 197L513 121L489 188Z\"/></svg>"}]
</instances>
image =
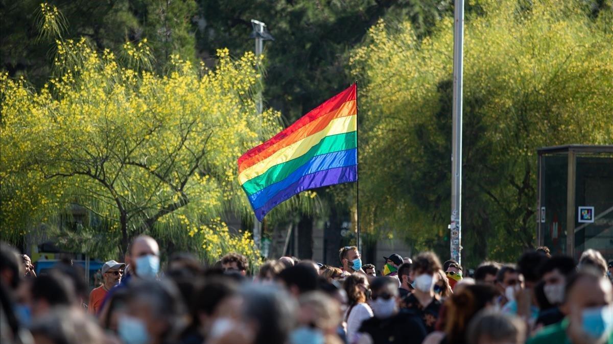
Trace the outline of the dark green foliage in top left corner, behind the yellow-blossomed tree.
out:
<instances>
[{"instance_id":1,"label":"dark green foliage in top left corner, behind the yellow-blossomed tree","mask_svg":"<svg viewBox=\"0 0 613 344\"><path fill-rule=\"evenodd\" d=\"M158 72L172 54L196 62L194 0L50 1L42 4L45 7L56 7L62 20L50 22L58 27L41 31L45 17L41 17L39 0L0 0L1 68L11 77L25 75L34 86L42 86L52 72L56 37L86 37L97 50L111 51L147 38ZM41 36L41 32L50 35ZM211 53L215 55L215 50Z\"/></svg>"}]
</instances>

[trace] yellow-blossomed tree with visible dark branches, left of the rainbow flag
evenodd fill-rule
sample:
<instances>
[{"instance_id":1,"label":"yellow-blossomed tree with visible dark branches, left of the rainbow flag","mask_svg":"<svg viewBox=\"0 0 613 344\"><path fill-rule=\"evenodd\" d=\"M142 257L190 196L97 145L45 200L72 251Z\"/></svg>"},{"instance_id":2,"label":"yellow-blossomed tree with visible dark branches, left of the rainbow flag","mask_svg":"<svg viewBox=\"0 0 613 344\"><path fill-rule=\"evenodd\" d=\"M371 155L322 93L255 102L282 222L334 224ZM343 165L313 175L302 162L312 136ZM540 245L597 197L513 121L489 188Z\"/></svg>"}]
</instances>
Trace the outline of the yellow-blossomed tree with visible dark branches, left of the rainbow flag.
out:
<instances>
[{"instance_id":1,"label":"yellow-blossomed tree with visible dark branches, left of the rainbow flag","mask_svg":"<svg viewBox=\"0 0 613 344\"><path fill-rule=\"evenodd\" d=\"M42 14L53 30L55 8ZM78 206L95 219L73 233L85 246L125 252L131 237L155 233L196 238L211 260L228 250L259 258L249 233L230 234L221 217L251 214L237 158L280 130L278 112L256 113L260 59L221 49L208 69L172 56L157 75L146 39L118 57L55 37L56 75L42 89L0 74L2 236ZM279 212L310 203L299 196ZM87 231L102 234L83 242Z\"/></svg>"}]
</instances>

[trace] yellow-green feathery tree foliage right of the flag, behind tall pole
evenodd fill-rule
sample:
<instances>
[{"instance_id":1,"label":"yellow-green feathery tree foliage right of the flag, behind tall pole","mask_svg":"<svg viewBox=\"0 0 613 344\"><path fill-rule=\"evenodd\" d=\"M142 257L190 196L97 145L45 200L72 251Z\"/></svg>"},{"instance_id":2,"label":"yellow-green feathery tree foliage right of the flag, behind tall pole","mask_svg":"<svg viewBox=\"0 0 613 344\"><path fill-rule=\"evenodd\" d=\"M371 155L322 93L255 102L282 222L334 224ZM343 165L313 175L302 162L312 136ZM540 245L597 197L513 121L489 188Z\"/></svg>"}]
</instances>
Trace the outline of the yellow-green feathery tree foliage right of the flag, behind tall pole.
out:
<instances>
[{"instance_id":1,"label":"yellow-green feathery tree foliage right of the flag, behind tall pole","mask_svg":"<svg viewBox=\"0 0 613 344\"><path fill-rule=\"evenodd\" d=\"M536 149L613 141L609 10L582 2L478 1L465 26L463 258L514 260L534 242ZM447 256L452 20L419 39L380 21L354 51L360 197L368 230L405 231Z\"/></svg>"}]
</instances>

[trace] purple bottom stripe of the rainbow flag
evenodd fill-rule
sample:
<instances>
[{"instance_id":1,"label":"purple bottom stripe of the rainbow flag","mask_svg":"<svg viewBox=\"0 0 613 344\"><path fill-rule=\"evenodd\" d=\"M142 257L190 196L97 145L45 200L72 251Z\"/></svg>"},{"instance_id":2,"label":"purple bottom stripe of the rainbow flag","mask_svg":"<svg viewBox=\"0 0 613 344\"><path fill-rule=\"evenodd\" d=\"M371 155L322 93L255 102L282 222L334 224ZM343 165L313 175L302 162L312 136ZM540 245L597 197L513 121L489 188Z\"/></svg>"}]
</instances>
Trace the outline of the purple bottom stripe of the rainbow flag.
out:
<instances>
[{"instance_id":1,"label":"purple bottom stripe of the rainbow flag","mask_svg":"<svg viewBox=\"0 0 613 344\"><path fill-rule=\"evenodd\" d=\"M306 176L298 179L298 181L295 183L276 193L276 195L272 196L272 198L270 198L270 200L268 200L264 206L257 208L255 210L256 217L260 222L262 222L264 216L270 211L270 209L275 208L275 206L281 202L305 190L354 181L357 181L357 165L330 168L329 170L307 174Z\"/></svg>"}]
</instances>

